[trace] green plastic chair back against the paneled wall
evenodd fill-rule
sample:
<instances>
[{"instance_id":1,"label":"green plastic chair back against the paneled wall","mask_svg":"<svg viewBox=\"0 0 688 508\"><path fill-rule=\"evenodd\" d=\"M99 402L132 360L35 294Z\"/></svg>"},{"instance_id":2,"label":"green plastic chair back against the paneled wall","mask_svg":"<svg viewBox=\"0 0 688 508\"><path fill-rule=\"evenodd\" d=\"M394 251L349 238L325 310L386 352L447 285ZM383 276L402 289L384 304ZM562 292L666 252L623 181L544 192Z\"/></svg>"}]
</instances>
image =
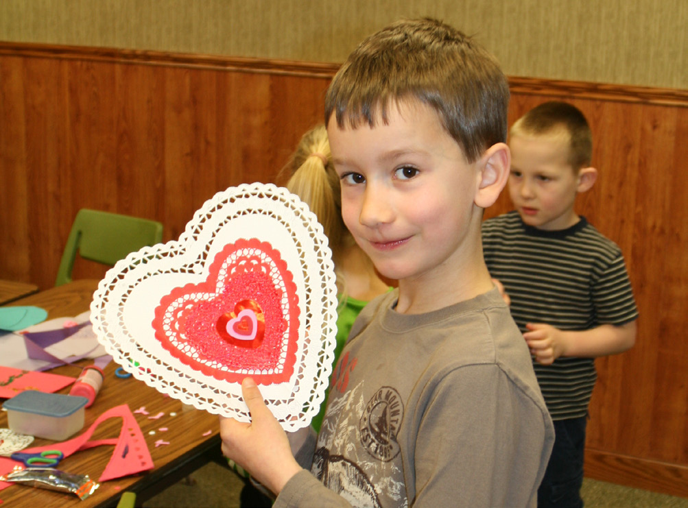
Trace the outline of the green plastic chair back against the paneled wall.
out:
<instances>
[{"instance_id":1,"label":"green plastic chair back against the paneled wall","mask_svg":"<svg viewBox=\"0 0 688 508\"><path fill-rule=\"evenodd\" d=\"M162 224L159 222L82 208L69 232L55 285L72 282L77 252L82 258L113 266L130 252L160 242Z\"/></svg>"}]
</instances>

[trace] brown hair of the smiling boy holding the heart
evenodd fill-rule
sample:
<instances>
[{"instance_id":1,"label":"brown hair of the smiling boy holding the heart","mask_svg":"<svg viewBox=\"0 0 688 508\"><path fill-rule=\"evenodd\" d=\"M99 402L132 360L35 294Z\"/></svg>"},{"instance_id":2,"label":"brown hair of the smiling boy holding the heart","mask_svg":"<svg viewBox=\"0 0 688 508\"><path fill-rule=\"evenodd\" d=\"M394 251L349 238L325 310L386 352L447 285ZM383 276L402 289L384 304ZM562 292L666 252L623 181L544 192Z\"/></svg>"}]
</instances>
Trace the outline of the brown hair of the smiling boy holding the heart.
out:
<instances>
[{"instance_id":1,"label":"brown hair of the smiling boy holding the heart","mask_svg":"<svg viewBox=\"0 0 688 508\"><path fill-rule=\"evenodd\" d=\"M486 49L440 21L398 21L367 37L350 54L325 97L325 124L387 122L395 102L420 100L474 162L506 141L509 89Z\"/></svg>"}]
</instances>

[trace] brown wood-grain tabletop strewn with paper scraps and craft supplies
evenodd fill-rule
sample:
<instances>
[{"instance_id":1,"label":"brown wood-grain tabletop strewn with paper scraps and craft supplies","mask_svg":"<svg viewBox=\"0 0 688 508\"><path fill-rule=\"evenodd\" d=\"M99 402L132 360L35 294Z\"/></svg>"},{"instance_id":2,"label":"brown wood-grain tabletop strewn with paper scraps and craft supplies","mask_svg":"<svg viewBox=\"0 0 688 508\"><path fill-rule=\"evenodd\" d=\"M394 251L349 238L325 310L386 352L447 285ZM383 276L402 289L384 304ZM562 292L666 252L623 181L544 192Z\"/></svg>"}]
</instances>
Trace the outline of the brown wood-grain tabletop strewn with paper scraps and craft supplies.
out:
<instances>
[{"instance_id":1,"label":"brown wood-grain tabletop strewn with paper scraps and craft supplies","mask_svg":"<svg viewBox=\"0 0 688 508\"><path fill-rule=\"evenodd\" d=\"M36 305L48 311L48 319L76 316L89 308L92 295L98 286L97 280L76 280L73 283L41 291L13 305ZM84 364L87 364L85 362ZM166 487L188 476L198 467L211 460L221 460L219 419L206 411L195 410L171 397L166 397L143 382L129 377L120 379L114 375L118 365L111 362L105 368L103 388L100 389L93 406L85 410L83 430L109 408L128 404L132 412L145 407L149 415L134 414L144 435L153 458L155 468L149 472L127 476L117 480L100 483L100 487L86 500L79 500L74 494L12 485L0 490L3 506L17 507L112 507L116 506L123 492L136 492L136 505L155 496ZM61 366L50 371L56 374L77 377L79 368ZM61 390L67 393L69 388ZM149 416L164 413L160 419ZM0 428L7 427L7 413L0 412ZM122 420L112 418L98 426L91 439L116 438L120 434ZM166 428L166 431L161 431ZM153 433L154 434L151 434ZM74 434L73 437L81 434ZM207 434L207 435L204 435ZM72 439L71 437L68 439ZM155 447L155 441L162 439L169 445ZM52 441L36 439L32 447L46 445ZM98 480L114 450L113 446L103 445L89 450L76 452L63 459L58 465L66 472L88 474ZM228 474L232 474L229 470Z\"/></svg>"}]
</instances>

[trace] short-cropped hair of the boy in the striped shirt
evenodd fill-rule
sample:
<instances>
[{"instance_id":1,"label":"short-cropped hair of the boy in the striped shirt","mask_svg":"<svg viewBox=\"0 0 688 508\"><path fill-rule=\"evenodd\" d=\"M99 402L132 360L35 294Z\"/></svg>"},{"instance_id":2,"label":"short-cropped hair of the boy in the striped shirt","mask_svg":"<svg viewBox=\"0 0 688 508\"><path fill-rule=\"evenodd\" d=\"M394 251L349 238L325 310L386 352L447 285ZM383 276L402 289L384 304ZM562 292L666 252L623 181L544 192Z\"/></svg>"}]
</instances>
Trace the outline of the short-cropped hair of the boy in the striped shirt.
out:
<instances>
[{"instance_id":1,"label":"short-cropped hair of the boy in the striped shirt","mask_svg":"<svg viewBox=\"0 0 688 508\"><path fill-rule=\"evenodd\" d=\"M546 135L563 129L568 134L568 163L578 171L592 162L592 132L580 109L568 102L543 102L511 126L511 135Z\"/></svg>"}]
</instances>

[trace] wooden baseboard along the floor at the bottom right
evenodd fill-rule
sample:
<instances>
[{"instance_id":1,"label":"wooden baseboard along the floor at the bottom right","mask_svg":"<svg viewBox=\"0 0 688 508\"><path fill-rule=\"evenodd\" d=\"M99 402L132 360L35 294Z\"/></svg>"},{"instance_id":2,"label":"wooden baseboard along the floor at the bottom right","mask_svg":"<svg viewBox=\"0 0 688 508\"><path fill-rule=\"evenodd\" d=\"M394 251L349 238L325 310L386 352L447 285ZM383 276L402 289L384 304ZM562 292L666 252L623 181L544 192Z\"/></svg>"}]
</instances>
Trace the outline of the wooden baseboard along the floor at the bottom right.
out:
<instances>
[{"instance_id":1,"label":"wooden baseboard along the floor at the bottom right","mask_svg":"<svg viewBox=\"0 0 688 508\"><path fill-rule=\"evenodd\" d=\"M585 448L585 476L688 498L688 467Z\"/></svg>"}]
</instances>

